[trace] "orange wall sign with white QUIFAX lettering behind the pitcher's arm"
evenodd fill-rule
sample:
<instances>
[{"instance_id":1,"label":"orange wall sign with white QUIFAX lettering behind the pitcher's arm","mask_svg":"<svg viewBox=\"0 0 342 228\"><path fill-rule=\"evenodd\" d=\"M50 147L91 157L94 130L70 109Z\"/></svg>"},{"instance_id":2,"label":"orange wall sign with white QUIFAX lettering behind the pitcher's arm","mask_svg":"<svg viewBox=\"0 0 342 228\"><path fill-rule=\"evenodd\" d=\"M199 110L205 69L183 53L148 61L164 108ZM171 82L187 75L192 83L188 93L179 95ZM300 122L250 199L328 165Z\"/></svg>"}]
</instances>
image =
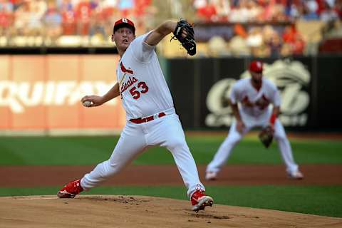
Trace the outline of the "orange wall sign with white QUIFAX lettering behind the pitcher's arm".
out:
<instances>
[{"instance_id":1,"label":"orange wall sign with white QUIFAX lettering behind the pitcher's arm","mask_svg":"<svg viewBox=\"0 0 342 228\"><path fill-rule=\"evenodd\" d=\"M118 56L1 56L0 130L120 130L115 98L84 108L84 95L103 95L116 81Z\"/></svg>"}]
</instances>

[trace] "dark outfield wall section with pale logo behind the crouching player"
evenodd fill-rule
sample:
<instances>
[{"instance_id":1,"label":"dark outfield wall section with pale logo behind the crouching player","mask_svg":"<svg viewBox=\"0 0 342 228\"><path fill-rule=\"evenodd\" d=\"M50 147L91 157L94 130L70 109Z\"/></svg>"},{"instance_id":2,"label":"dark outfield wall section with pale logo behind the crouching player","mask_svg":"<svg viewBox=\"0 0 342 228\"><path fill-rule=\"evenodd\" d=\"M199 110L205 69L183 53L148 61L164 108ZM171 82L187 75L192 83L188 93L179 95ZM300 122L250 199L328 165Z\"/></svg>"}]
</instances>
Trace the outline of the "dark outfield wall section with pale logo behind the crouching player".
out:
<instances>
[{"instance_id":1,"label":"dark outfield wall section with pale logo behind the crouching player","mask_svg":"<svg viewBox=\"0 0 342 228\"><path fill-rule=\"evenodd\" d=\"M185 128L227 128L232 85L250 58L173 58L167 76ZM341 130L342 56L264 58L264 76L281 91L281 122L294 130Z\"/></svg>"}]
</instances>

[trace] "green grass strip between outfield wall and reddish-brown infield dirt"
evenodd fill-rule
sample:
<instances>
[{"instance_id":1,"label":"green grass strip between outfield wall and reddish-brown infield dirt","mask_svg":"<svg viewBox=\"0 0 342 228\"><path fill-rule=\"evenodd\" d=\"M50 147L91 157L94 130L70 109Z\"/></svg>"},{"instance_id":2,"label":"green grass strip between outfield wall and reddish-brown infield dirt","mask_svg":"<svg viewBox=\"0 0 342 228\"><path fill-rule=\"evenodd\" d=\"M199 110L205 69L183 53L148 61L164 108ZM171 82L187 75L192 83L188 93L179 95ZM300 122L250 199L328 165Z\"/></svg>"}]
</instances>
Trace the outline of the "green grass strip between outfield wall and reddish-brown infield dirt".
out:
<instances>
[{"instance_id":1,"label":"green grass strip between outfield wall and reddish-brown infield dirt","mask_svg":"<svg viewBox=\"0 0 342 228\"><path fill-rule=\"evenodd\" d=\"M207 165L224 137L192 136L187 143L197 164ZM95 165L107 160L118 137L0 137L0 165ZM299 164L342 164L338 140L291 140ZM66 159L68 157L68 159ZM234 148L229 164L282 164L276 143L266 150L256 137ZM154 147L140 155L135 165L174 164L166 149Z\"/></svg>"}]
</instances>

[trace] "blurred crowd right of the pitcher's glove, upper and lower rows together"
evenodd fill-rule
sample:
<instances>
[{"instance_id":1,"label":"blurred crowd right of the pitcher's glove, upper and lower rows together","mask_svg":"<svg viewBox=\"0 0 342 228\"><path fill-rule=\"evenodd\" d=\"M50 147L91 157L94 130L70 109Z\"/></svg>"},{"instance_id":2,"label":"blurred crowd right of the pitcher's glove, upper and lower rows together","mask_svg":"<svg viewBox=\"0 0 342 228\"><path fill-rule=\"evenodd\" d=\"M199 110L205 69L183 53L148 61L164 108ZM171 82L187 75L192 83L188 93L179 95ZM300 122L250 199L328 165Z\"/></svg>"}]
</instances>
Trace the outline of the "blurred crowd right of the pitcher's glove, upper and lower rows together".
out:
<instances>
[{"instance_id":1,"label":"blurred crowd right of the pitcher's glove, upper and lower rows together","mask_svg":"<svg viewBox=\"0 0 342 228\"><path fill-rule=\"evenodd\" d=\"M195 0L193 6L198 21L233 26L228 40L216 36L209 41L209 50L216 55L306 54L311 33L301 33L297 22L331 24L342 18L342 0ZM321 33L318 27L316 31Z\"/></svg>"}]
</instances>

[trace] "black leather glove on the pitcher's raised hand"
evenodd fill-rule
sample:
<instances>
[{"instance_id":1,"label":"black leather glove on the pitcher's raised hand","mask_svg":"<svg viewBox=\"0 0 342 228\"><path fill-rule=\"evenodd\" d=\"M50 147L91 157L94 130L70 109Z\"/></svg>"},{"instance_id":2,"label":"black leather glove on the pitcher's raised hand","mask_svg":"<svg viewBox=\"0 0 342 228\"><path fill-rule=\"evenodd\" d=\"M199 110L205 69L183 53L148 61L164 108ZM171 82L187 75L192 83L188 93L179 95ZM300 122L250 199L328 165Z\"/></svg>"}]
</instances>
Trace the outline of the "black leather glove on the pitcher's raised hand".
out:
<instances>
[{"instance_id":1,"label":"black leather glove on the pitcher's raised hand","mask_svg":"<svg viewBox=\"0 0 342 228\"><path fill-rule=\"evenodd\" d=\"M182 31L187 31L187 36L182 37ZM177 22L177 26L175 28L175 31L173 31L173 34L175 36L172 37L172 39L177 38L180 43L182 43L182 46L187 49L187 53L190 56L195 55L196 53L196 41L195 41L195 33L194 28L192 25L185 21L185 19L180 19L180 21Z\"/></svg>"}]
</instances>

